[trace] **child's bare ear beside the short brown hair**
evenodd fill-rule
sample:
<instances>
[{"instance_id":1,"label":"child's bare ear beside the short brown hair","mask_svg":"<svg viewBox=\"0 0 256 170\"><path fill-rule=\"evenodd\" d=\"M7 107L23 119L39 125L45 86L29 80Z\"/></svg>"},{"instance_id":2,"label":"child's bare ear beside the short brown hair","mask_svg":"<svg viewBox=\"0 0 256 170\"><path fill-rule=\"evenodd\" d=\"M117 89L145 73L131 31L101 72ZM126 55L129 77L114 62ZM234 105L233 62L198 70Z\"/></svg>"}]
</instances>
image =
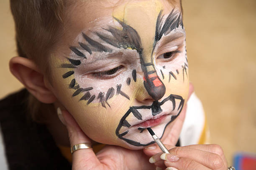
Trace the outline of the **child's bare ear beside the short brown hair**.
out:
<instances>
[{"instance_id":1,"label":"child's bare ear beside the short brown hair","mask_svg":"<svg viewBox=\"0 0 256 170\"><path fill-rule=\"evenodd\" d=\"M35 96L40 102L53 103L56 97L46 87L44 75L38 66L28 58L13 57L9 62L10 72Z\"/></svg>"}]
</instances>

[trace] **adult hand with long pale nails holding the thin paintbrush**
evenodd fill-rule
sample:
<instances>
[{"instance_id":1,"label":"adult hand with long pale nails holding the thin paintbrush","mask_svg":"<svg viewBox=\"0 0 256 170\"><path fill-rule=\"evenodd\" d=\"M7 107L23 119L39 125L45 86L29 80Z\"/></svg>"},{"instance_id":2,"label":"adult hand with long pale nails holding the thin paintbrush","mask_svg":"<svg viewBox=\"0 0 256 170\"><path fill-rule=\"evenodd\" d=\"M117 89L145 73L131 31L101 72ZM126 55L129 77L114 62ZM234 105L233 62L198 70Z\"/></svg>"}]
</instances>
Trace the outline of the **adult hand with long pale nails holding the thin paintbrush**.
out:
<instances>
[{"instance_id":1,"label":"adult hand with long pale nails holding the thin paintbrush","mask_svg":"<svg viewBox=\"0 0 256 170\"><path fill-rule=\"evenodd\" d=\"M219 145L188 145L172 147L170 154L158 153L149 161L166 170L227 170L227 161Z\"/></svg>"}]
</instances>

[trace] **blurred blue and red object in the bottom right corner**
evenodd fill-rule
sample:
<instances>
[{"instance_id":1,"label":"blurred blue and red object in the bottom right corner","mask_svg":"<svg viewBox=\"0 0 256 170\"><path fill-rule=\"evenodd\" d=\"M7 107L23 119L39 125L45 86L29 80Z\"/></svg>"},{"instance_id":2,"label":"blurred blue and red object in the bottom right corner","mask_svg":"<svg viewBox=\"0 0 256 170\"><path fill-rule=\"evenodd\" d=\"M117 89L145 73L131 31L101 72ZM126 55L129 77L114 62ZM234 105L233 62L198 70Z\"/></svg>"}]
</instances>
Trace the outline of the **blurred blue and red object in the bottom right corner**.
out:
<instances>
[{"instance_id":1,"label":"blurred blue and red object in the bottom right corner","mask_svg":"<svg viewBox=\"0 0 256 170\"><path fill-rule=\"evenodd\" d=\"M236 170L256 170L256 154L237 153L233 160Z\"/></svg>"}]
</instances>

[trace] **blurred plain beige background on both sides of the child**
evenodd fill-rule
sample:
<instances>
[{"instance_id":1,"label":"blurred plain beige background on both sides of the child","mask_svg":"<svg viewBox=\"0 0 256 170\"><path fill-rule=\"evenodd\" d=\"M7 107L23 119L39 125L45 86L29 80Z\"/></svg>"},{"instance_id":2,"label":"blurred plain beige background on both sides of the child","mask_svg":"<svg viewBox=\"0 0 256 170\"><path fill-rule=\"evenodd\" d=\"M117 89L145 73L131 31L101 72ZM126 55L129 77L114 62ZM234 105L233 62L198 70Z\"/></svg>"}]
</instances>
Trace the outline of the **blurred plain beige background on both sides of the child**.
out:
<instances>
[{"instance_id":1,"label":"blurred plain beige background on both sides of the child","mask_svg":"<svg viewBox=\"0 0 256 170\"><path fill-rule=\"evenodd\" d=\"M232 163L256 153L256 1L183 0L189 75L207 113L212 143ZM0 1L0 98L22 87L10 74L15 31L9 1Z\"/></svg>"}]
</instances>

